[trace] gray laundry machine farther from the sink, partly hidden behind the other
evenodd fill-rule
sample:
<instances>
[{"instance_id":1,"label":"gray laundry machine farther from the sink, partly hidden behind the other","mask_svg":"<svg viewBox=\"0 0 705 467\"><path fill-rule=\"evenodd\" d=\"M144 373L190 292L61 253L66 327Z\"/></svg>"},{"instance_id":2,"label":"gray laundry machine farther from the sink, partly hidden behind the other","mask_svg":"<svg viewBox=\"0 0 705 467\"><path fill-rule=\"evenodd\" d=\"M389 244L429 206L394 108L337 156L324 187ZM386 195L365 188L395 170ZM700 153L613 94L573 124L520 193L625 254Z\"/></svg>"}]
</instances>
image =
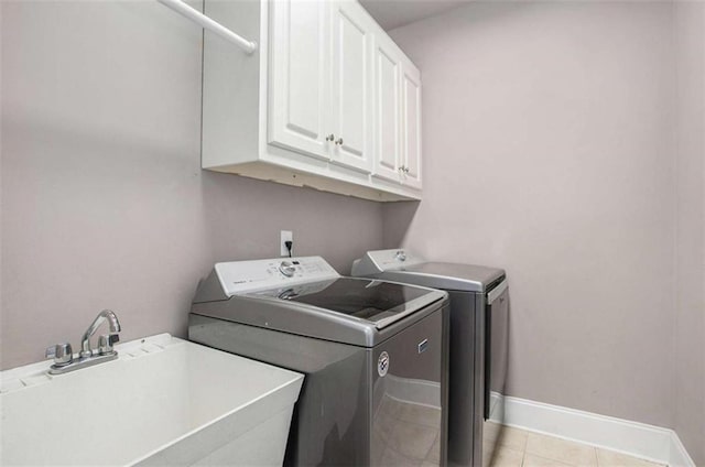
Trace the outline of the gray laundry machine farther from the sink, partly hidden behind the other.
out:
<instances>
[{"instance_id":1,"label":"gray laundry machine farther from the sink, partly hidden behind the other","mask_svg":"<svg viewBox=\"0 0 705 467\"><path fill-rule=\"evenodd\" d=\"M352 275L423 285L451 296L448 465L488 466L503 422L509 300L505 271L369 251Z\"/></svg>"}]
</instances>

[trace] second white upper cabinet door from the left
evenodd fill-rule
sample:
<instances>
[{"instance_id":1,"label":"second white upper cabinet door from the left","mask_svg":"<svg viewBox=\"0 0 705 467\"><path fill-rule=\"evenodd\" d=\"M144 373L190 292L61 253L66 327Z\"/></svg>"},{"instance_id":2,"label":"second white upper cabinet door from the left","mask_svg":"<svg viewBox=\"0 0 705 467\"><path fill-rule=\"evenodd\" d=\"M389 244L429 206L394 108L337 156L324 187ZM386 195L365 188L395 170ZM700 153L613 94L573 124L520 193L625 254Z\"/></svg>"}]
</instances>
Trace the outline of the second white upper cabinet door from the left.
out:
<instances>
[{"instance_id":1,"label":"second white upper cabinet door from the left","mask_svg":"<svg viewBox=\"0 0 705 467\"><path fill-rule=\"evenodd\" d=\"M372 171L372 32L376 24L357 2L333 2L332 97L335 142L330 161Z\"/></svg>"}]
</instances>

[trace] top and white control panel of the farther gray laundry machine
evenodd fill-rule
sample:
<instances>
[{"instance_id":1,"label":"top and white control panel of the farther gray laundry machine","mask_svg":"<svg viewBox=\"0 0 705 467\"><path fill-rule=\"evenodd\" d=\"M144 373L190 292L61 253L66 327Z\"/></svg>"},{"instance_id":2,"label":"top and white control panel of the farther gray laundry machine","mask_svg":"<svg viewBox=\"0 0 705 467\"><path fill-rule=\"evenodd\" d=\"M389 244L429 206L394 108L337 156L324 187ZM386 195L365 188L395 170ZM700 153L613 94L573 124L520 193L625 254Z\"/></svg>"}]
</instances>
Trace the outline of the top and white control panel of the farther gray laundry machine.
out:
<instances>
[{"instance_id":1,"label":"top and white control panel of the farther gray laundry machine","mask_svg":"<svg viewBox=\"0 0 705 467\"><path fill-rule=\"evenodd\" d=\"M354 275L423 285L432 289L487 292L505 278L505 271L474 264L426 262L403 249L368 251L356 261Z\"/></svg>"}]
</instances>

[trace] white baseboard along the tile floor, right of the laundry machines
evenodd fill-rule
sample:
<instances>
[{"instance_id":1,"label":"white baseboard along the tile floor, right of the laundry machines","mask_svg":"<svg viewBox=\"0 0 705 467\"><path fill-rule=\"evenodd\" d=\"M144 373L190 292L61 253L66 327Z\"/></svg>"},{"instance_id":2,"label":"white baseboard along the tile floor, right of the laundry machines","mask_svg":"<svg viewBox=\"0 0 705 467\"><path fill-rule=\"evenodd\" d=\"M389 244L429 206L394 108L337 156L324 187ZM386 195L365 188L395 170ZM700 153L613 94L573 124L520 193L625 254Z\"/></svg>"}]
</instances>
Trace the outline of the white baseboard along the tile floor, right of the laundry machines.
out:
<instances>
[{"instance_id":1,"label":"white baseboard along the tile floor, right of the laundry machines","mask_svg":"<svg viewBox=\"0 0 705 467\"><path fill-rule=\"evenodd\" d=\"M671 467L695 467L673 430L646 423L506 397L505 424Z\"/></svg>"}]
</instances>

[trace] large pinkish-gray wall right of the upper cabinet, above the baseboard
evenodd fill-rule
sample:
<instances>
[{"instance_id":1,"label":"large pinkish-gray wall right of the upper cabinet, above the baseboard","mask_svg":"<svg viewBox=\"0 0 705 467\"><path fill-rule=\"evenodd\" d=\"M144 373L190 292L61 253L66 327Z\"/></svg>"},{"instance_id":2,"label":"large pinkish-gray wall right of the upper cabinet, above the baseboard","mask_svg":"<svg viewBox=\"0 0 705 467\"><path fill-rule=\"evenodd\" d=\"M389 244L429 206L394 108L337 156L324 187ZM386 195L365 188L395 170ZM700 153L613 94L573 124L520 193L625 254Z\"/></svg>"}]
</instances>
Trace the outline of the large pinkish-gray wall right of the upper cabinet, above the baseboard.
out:
<instances>
[{"instance_id":1,"label":"large pinkish-gray wall right of the upper cabinet, above the baseboard","mask_svg":"<svg viewBox=\"0 0 705 467\"><path fill-rule=\"evenodd\" d=\"M387 246L507 269L511 395L671 426L672 6L477 2L392 36L425 180Z\"/></svg>"}]
</instances>

